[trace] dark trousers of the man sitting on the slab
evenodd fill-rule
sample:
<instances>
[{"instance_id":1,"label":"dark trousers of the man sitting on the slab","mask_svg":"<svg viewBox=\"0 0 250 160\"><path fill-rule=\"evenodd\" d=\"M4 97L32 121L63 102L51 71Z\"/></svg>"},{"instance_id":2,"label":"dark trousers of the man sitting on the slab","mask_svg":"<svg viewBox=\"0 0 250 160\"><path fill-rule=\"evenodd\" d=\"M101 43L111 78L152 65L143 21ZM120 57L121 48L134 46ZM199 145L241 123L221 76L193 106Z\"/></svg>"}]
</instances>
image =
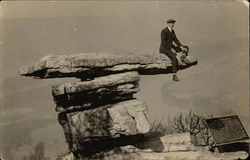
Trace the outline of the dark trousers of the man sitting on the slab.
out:
<instances>
[{"instance_id":1,"label":"dark trousers of the man sitting on the slab","mask_svg":"<svg viewBox=\"0 0 250 160\"><path fill-rule=\"evenodd\" d=\"M186 54L186 56L188 55L188 51L189 51L189 47L188 46L183 46L184 48L186 48L186 51L183 53ZM177 46L172 46L172 48L175 50L176 53L178 52L182 52L182 49L180 47ZM176 53L174 53L171 49L167 49L166 52L164 52L163 54L167 55L168 58L171 60L171 64L172 64L172 72L173 73L177 73L178 71L178 60L176 58Z\"/></svg>"}]
</instances>

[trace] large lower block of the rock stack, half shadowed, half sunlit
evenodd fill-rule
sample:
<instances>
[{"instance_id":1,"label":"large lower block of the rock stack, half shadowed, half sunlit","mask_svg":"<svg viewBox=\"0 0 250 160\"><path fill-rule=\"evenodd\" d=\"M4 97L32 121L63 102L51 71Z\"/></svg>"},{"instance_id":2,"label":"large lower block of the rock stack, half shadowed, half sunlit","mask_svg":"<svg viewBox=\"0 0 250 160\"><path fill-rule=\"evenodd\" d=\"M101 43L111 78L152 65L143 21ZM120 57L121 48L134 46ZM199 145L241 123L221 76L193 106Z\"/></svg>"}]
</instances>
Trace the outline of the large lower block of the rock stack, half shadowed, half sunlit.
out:
<instances>
[{"instance_id":1,"label":"large lower block of the rock stack, half shadowed, half sunlit","mask_svg":"<svg viewBox=\"0 0 250 160\"><path fill-rule=\"evenodd\" d=\"M84 151L101 148L109 143L122 143L121 139L115 138L149 132L146 112L146 104L134 99L90 110L61 113L58 120L64 129L69 148ZM126 141L128 139L125 138ZM89 147L93 144L96 148Z\"/></svg>"}]
</instances>

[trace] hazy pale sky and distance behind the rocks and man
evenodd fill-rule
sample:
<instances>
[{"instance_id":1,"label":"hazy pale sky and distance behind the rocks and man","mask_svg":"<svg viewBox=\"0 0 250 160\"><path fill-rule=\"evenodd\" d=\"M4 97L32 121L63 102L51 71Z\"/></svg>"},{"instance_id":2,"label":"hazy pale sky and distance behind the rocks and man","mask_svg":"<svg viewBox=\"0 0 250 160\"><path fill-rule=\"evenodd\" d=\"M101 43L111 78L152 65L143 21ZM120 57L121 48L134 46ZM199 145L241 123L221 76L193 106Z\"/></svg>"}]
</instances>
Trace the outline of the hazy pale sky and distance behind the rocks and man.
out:
<instances>
[{"instance_id":1,"label":"hazy pale sky and distance behind the rocks and man","mask_svg":"<svg viewBox=\"0 0 250 160\"><path fill-rule=\"evenodd\" d=\"M168 116L190 109L202 115L233 110L249 129L248 8L244 3L13 1L0 7L2 141L16 149L15 158L32 153L39 141L45 142L47 156L67 152L51 86L76 81L21 77L19 67L48 54L158 54L160 31L168 18L176 20L175 32L190 46L198 64L180 71L178 83L170 74L141 76L141 91L135 97L147 104L149 120L163 117L167 122Z\"/></svg>"}]
</instances>

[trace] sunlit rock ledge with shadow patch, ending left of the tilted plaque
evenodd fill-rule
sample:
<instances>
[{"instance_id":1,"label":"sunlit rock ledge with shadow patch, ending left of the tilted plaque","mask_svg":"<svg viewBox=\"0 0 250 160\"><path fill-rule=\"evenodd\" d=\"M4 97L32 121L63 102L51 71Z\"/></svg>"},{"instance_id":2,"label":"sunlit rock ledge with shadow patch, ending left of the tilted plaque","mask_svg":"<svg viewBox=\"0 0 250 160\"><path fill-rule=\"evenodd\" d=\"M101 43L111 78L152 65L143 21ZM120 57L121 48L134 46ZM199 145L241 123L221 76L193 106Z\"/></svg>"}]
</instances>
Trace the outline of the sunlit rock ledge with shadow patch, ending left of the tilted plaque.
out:
<instances>
[{"instance_id":1,"label":"sunlit rock ledge with shadow patch, ending left of the tilted plaque","mask_svg":"<svg viewBox=\"0 0 250 160\"><path fill-rule=\"evenodd\" d=\"M107 149L89 157L89 159L158 159L163 154L173 152L194 152L195 147L191 144L190 134L156 135L155 133L145 134L133 145L121 146L119 148ZM158 155L155 155L155 154ZM161 156L160 156L161 155ZM68 154L59 158L60 160L74 157ZM59 160L58 159L58 160ZM80 157L79 159L84 159Z\"/></svg>"}]
</instances>

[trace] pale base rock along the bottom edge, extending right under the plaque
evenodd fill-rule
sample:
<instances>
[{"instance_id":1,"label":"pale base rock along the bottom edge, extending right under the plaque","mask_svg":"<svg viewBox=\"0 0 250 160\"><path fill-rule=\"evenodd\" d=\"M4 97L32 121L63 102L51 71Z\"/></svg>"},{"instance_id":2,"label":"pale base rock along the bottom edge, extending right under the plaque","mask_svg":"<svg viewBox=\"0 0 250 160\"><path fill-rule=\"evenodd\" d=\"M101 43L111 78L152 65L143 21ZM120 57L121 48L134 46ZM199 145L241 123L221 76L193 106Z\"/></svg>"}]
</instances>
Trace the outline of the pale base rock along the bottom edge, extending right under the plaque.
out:
<instances>
[{"instance_id":1,"label":"pale base rock along the bottom edge, extending right under the plaque","mask_svg":"<svg viewBox=\"0 0 250 160\"><path fill-rule=\"evenodd\" d=\"M80 157L80 160L235 160L248 157L248 153L244 151L219 154L207 151L204 147L195 147L191 144L189 133L146 137L141 140L137 145L117 147L88 158ZM57 160L75 160L75 156L69 153Z\"/></svg>"}]
</instances>

